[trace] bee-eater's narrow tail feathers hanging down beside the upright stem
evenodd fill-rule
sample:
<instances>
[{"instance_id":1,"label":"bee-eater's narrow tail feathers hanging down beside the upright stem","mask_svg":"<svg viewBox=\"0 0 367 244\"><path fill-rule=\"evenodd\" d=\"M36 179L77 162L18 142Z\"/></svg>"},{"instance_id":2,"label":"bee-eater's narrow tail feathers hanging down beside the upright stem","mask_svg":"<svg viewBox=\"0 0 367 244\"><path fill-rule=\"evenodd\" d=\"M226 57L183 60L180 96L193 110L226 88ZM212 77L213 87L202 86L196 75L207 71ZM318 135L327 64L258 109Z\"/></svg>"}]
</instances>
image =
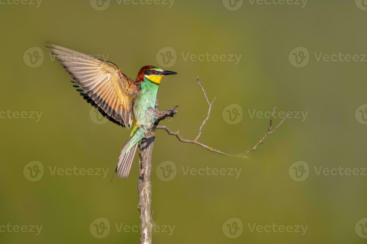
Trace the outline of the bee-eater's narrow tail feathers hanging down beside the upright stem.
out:
<instances>
[{"instance_id":1,"label":"bee-eater's narrow tail feathers hanging down beside the upright stem","mask_svg":"<svg viewBox=\"0 0 367 244\"><path fill-rule=\"evenodd\" d=\"M116 173L119 175L121 179L126 179L129 176L132 161L134 160L135 153L138 149L139 140L136 143L135 141L136 141L136 138L134 138L134 136L131 137L130 139L127 140L124 147L121 149L119 163L117 164L117 167L116 167L116 170L113 176L115 176ZM131 143L135 143L135 144L133 144L133 146L131 147ZM113 179L113 176L112 176L112 179Z\"/></svg>"}]
</instances>

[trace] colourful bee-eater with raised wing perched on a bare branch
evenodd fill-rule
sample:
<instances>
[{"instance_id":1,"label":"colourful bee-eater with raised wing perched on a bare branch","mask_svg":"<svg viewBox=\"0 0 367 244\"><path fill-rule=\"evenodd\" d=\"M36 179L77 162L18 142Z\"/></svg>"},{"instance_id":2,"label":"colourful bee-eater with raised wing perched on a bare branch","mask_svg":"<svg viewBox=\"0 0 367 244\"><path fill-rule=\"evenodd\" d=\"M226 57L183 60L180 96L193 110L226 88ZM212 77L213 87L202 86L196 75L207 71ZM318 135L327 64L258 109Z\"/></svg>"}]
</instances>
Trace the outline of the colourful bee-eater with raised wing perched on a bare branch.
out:
<instances>
[{"instance_id":1,"label":"colourful bee-eater with raised wing perched on a bare branch","mask_svg":"<svg viewBox=\"0 0 367 244\"><path fill-rule=\"evenodd\" d=\"M126 179L137 151L138 142L162 116L155 109L161 79L177 74L154 66L144 66L135 81L117 65L74 50L48 43L46 48L73 78L80 95L110 121L130 128L130 139L123 146L115 173ZM112 176L113 177L113 176Z\"/></svg>"}]
</instances>

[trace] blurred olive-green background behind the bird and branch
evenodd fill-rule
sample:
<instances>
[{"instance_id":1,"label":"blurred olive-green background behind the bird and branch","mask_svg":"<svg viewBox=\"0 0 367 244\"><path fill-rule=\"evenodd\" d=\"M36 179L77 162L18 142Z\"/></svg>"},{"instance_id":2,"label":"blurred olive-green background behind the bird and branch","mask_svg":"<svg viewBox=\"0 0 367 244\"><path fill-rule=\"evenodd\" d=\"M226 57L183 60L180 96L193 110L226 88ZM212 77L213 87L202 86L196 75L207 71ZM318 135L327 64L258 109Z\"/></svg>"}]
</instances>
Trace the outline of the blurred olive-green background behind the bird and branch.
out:
<instances>
[{"instance_id":1,"label":"blurred olive-green background behind the bird and branch","mask_svg":"<svg viewBox=\"0 0 367 244\"><path fill-rule=\"evenodd\" d=\"M261 113L274 106L278 112L307 113L287 119L248 159L212 153L157 130L151 180L160 231L153 232L153 243L366 243L362 0L98 1L1 1L0 243L139 243L138 157L127 180L115 177L110 184L130 131L96 117L44 48L47 41L108 57L132 79L143 65L162 67L160 57L171 57L163 68L179 75L163 79L158 99L161 110L179 108L161 124L195 139L208 109L199 75L209 100L217 97L199 141L227 153L251 149L269 126ZM226 58L186 59L207 52ZM358 54L359 60L317 60L339 52ZM292 57L302 54L304 67L294 67ZM228 60L231 55L241 55L238 64ZM252 116L254 111L259 115ZM233 124L229 115L240 117ZM33 161L44 168L34 182L27 166ZM176 166L170 181L157 169L166 161ZM225 168L226 175L186 173L207 166ZM318 173L320 167L339 166L360 171ZM53 173L73 167L94 173ZM98 168L109 171L104 177ZM233 168L241 170L237 179L235 171L229 174ZM101 239L92 233L99 218L110 224ZM273 223L307 230L260 231ZM259 231L251 231L254 224ZM16 233L6 225L43 227L36 235L36 228Z\"/></svg>"}]
</instances>

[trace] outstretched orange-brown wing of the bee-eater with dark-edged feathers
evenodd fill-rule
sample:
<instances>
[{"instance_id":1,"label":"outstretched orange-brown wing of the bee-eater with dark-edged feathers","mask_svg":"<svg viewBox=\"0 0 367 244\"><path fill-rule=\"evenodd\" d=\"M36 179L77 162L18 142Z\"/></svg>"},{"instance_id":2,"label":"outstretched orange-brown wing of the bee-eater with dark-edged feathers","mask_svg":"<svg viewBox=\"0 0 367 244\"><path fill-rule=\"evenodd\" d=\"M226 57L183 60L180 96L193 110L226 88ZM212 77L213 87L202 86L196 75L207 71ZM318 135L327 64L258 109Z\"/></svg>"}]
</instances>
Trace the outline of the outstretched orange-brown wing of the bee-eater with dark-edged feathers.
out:
<instances>
[{"instance_id":1,"label":"outstretched orange-brown wing of the bee-eater with dark-edged feathers","mask_svg":"<svg viewBox=\"0 0 367 244\"><path fill-rule=\"evenodd\" d=\"M55 55L91 100L87 101L97 105L101 113L104 112L102 115L110 116L124 127L132 125L132 102L138 93L138 87L119 67L51 43L46 48Z\"/></svg>"}]
</instances>

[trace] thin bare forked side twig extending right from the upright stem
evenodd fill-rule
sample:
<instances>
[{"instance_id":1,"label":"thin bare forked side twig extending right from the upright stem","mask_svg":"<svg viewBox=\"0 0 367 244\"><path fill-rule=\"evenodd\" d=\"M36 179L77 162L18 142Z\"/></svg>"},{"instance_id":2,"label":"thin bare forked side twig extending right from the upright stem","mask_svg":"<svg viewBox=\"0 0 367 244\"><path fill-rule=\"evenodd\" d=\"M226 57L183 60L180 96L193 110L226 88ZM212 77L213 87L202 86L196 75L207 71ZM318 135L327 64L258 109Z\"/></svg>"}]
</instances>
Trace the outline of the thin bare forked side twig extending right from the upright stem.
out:
<instances>
[{"instance_id":1,"label":"thin bare forked side twig extending right from the upright stem","mask_svg":"<svg viewBox=\"0 0 367 244\"><path fill-rule=\"evenodd\" d=\"M199 84L199 86L200 86L201 90L202 90L202 91L203 91L203 93L204 93L204 98L205 98L205 100L207 101L207 103L208 103L208 105L209 105L209 109L208 109L207 118L205 119L205 118L203 117L204 121L203 121L203 123L201 124L201 126L199 127L199 135L197 135L197 137L195 138L195 140L186 140L186 139L183 139L183 138L179 135L179 131L172 132L172 131L171 131L170 129L168 129L168 128L167 128L167 126L165 126L165 125L158 125L158 126L156 126L156 129L164 129L165 131L167 131L167 133L168 133L169 135L174 135L174 136L176 136L176 137L177 137L177 139L178 139L180 142L196 144L196 145L199 145L199 146L201 146L201 147L204 147L204 148L208 149L209 151L212 151L212 152L214 152L214 153L219 153L219 154L222 154L222 155L225 155L225 156L233 156L233 157L243 157L243 158L247 158L247 157L245 156L245 154L250 153L251 151L256 150L256 148L257 148L257 146L258 146L259 144L264 143L263 141L264 141L264 139L266 138L266 136L268 136L268 135L270 135L271 133L273 133L274 131L276 131L276 129L277 129L281 124L283 124L284 120L285 120L285 119L287 119L287 117L288 117L288 116L290 116L290 115L287 115L286 117L284 117L284 119L283 119L283 120L282 120L282 121L277 125L277 127L275 127L275 129L274 129L273 131L271 131L271 128L272 128L272 121L273 121L273 114L274 114L274 110L275 110L275 108L276 108L276 107L274 107L274 108L273 108L273 110L272 110L272 115L270 116L270 126L269 126L268 131L266 132L265 136L264 136L264 137L263 137L263 138L262 138L262 139L261 139L257 144L255 144L255 146L254 146L254 147L252 147L252 149L250 149L250 150L246 151L246 152L245 152L245 153L243 153L242 155L228 154L228 153L224 153L224 152L222 152L221 150L213 149L212 147L209 147L209 146L207 146L207 145L204 145L203 143L197 142L197 139L199 139L199 137L200 137L200 135L201 135L201 129L203 128L204 124L206 123L206 121L207 121L207 120L208 120L208 118L209 118L210 110L211 110L211 106L212 106L212 104L213 104L213 102L214 102L214 100L215 100L215 97L214 97L213 101L210 103L210 102L209 102L209 100L208 100L208 95L206 94L206 92L205 92L205 90L204 90L204 88L203 88L203 84L202 84L202 83L200 83L199 76L197 76L197 79L196 79L196 80L197 80L197 83ZM177 106L176 106L175 108L177 108ZM174 109L175 109L175 108L174 108ZM167 111L167 110L166 110L166 111ZM176 112L177 112L177 111L176 111ZM172 117L173 117L173 115L172 115Z\"/></svg>"}]
</instances>

